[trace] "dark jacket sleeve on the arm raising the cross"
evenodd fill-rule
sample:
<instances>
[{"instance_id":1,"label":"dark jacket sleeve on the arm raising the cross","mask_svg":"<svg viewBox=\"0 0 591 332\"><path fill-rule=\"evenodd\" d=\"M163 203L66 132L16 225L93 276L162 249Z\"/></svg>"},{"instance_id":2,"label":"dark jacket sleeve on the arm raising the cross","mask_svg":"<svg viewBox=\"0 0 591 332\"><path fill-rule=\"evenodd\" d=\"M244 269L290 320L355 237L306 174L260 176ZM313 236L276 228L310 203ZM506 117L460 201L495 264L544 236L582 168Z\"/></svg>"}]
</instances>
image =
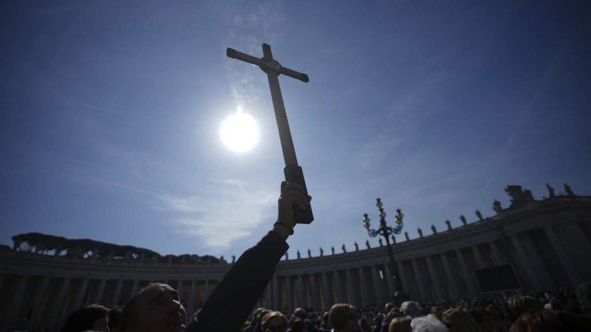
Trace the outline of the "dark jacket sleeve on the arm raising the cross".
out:
<instances>
[{"instance_id":1,"label":"dark jacket sleeve on the arm raising the cross","mask_svg":"<svg viewBox=\"0 0 591 332\"><path fill-rule=\"evenodd\" d=\"M288 248L277 233L269 232L246 250L213 289L186 332L241 331Z\"/></svg>"}]
</instances>

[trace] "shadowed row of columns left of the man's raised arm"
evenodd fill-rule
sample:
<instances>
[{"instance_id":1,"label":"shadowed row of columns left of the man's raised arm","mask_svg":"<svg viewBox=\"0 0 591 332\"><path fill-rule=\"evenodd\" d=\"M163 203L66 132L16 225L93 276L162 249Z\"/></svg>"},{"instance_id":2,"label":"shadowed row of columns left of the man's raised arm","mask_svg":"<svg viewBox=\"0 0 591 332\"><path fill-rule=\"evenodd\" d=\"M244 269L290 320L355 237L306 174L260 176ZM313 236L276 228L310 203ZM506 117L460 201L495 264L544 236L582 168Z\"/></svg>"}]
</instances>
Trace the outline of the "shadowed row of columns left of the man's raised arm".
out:
<instances>
[{"instance_id":1,"label":"shadowed row of columns left of the man's raised arm","mask_svg":"<svg viewBox=\"0 0 591 332\"><path fill-rule=\"evenodd\" d=\"M187 315L201 307L217 279L111 279L69 276L0 275L0 330L63 326L72 311L97 303L125 305L138 289L163 282L177 289Z\"/></svg>"}]
</instances>

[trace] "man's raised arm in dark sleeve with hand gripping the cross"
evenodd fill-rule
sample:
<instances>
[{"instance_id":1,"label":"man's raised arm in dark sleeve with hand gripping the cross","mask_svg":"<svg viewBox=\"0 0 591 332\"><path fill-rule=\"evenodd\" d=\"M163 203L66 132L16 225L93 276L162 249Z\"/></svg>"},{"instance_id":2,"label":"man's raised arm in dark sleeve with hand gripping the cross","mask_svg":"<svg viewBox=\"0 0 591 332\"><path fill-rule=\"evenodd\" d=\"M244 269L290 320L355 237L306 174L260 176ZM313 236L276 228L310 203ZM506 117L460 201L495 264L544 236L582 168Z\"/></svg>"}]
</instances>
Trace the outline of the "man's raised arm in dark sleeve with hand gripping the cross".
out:
<instances>
[{"instance_id":1,"label":"man's raised arm in dark sleeve with hand gripping the cross","mask_svg":"<svg viewBox=\"0 0 591 332\"><path fill-rule=\"evenodd\" d=\"M294 206L306 209L309 199L296 183L282 183L278 220L261 241L236 261L205 301L187 332L240 331L256 301L275 273L289 246L285 243L295 226Z\"/></svg>"}]
</instances>

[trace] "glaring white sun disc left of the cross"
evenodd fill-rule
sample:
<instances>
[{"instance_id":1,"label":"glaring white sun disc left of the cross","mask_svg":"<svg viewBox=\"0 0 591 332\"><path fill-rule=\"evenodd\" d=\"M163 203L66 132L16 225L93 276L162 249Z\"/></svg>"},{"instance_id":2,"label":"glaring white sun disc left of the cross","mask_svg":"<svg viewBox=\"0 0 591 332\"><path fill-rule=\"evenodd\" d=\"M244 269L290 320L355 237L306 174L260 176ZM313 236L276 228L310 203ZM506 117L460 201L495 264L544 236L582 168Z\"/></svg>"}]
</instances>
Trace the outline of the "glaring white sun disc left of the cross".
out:
<instances>
[{"instance_id":1,"label":"glaring white sun disc left of the cross","mask_svg":"<svg viewBox=\"0 0 591 332\"><path fill-rule=\"evenodd\" d=\"M258 126L252 116L238 109L222 123L220 136L230 150L245 152L252 149L258 142Z\"/></svg>"}]
</instances>

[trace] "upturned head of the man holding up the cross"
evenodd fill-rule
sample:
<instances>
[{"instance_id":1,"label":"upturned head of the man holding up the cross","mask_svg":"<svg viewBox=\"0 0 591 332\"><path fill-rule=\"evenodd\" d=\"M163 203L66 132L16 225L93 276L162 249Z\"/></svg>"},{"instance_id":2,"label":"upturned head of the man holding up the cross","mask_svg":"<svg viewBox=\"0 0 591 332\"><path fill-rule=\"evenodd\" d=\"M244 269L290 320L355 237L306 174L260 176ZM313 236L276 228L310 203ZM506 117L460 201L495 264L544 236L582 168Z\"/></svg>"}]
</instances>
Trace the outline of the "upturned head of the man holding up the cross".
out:
<instances>
[{"instance_id":1,"label":"upturned head of the man holding up the cross","mask_svg":"<svg viewBox=\"0 0 591 332\"><path fill-rule=\"evenodd\" d=\"M158 285L139 294L138 321L135 332L181 332L187 327L187 313L178 292L168 285Z\"/></svg>"}]
</instances>

